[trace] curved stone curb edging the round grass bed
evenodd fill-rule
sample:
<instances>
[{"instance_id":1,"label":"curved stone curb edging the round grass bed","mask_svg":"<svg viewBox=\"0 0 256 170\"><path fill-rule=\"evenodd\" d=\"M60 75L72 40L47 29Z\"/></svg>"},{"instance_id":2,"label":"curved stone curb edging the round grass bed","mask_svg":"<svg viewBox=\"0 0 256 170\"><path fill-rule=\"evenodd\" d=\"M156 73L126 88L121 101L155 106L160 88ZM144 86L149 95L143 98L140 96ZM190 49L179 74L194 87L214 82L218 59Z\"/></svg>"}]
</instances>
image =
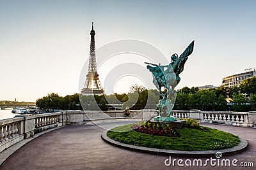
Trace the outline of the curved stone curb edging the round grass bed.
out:
<instances>
[{"instance_id":1,"label":"curved stone curb edging the round grass bed","mask_svg":"<svg viewBox=\"0 0 256 170\"><path fill-rule=\"evenodd\" d=\"M101 134L101 138L106 143L110 145L116 146L118 148L123 148L126 150L131 150L135 152L142 152L142 153L149 153L153 155L168 155L168 156L179 156L179 157L215 157L217 152L221 152L222 156L234 155L237 153L244 152L248 148L248 142L243 139L240 139L240 143L233 148L227 148L224 150L202 150L202 151L183 151L183 150L164 150L164 149L157 149L157 148L147 148L143 146L134 146L128 145L125 143L120 143L115 141L107 136L108 131L104 131Z\"/></svg>"}]
</instances>

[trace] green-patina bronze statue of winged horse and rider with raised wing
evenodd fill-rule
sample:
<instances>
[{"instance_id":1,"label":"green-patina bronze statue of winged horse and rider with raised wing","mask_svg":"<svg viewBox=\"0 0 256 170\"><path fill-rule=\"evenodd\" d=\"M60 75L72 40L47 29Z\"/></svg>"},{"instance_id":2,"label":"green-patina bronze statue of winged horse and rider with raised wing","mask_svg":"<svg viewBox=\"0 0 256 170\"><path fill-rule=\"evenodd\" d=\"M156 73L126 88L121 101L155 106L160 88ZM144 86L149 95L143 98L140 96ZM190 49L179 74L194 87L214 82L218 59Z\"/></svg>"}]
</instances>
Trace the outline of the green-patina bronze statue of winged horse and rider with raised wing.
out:
<instances>
[{"instance_id":1,"label":"green-patina bronze statue of winged horse and rider with raised wing","mask_svg":"<svg viewBox=\"0 0 256 170\"><path fill-rule=\"evenodd\" d=\"M153 74L153 83L156 85L156 88L159 90L161 95L161 100L159 101L159 118L154 118L155 120L162 121L174 121L175 118L170 117L172 114L172 97L174 96L174 88L180 82L179 74L184 70L184 64L186 60L188 60L188 56L193 52L194 41L190 43L190 45L186 48L186 50L180 55L177 53L172 55L170 64L166 66L161 66L157 64L152 64L145 62L148 64L147 69ZM152 66L150 66L152 65ZM164 90L162 90L162 87ZM163 118L162 113L166 113L168 118ZM162 117L162 119L161 119Z\"/></svg>"}]
</instances>

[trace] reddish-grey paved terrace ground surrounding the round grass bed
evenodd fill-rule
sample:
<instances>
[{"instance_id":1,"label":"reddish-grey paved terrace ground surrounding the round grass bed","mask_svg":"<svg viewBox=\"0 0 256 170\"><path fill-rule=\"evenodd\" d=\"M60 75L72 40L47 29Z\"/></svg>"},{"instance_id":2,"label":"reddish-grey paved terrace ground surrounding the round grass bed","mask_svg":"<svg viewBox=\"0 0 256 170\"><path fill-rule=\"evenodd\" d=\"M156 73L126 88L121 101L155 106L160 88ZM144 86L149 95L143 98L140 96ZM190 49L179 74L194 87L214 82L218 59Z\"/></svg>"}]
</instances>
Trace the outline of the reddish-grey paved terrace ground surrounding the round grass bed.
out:
<instances>
[{"instance_id":1,"label":"reddish-grey paved terrace ground surrounding the round grass bed","mask_svg":"<svg viewBox=\"0 0 256 170\"><path fill-rule=\"evenodd\" d=\"M100 124L109 129L124 122ZM240 162L253 162L256 166L256 129L227 125L202 124L231 132L248 140L246 152L223 157ZM242 169L242 167L165 166L168 156L150 155L116 148L100 138L104 129L97 125L70 125L48 132L22 146L9 157L0 169ZM172 157L173 159L189 158ZM198 158L197 158L198 159ZM214 159L214 158L213 158ZM193 158L191 158L193 161ZM203 161L205 159L202 159ZM184 164L184 162L183 162ZM247 167L246 169L253 169Z\"/></svg>"}]
</instances>

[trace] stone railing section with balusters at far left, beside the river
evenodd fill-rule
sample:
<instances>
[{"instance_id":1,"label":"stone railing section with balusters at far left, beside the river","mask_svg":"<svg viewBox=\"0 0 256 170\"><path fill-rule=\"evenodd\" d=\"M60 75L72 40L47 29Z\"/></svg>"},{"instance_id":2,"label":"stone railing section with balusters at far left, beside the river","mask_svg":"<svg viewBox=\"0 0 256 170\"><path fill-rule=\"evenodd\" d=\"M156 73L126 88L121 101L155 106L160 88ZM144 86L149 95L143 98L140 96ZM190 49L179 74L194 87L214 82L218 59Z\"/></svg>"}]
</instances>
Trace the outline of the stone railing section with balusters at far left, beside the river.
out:
<instances>
[{"instance_id":1,"label":"stone railing section with balusters at far left, beside the river","mask_svg":"<svg viewBox=\"0 0 256 170\"><path fill-rule=\"evenodd\" d=\"M62 113L19 115L0 120L0 152L37 132L62 125Z\"/></svg>"}]
</instances>

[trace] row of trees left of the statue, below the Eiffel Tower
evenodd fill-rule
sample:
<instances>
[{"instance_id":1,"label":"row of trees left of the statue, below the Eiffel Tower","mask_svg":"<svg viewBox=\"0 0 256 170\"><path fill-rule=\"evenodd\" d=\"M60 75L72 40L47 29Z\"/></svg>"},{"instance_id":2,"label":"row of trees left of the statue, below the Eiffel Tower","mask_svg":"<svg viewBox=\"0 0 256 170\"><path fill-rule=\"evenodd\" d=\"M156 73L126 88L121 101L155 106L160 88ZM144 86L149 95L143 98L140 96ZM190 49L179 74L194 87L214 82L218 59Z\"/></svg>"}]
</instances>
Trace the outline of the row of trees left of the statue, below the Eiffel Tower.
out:
<instances>
[{"instance_id":1,"label":"row of trees left of the statue, below the Eiffel Tower","mask_svg":"<svg viewBox=\"0 0 256 170\"><path fill-rule=\"evenodd\" d=\"M36 106L42 110L124 110L127 106L131 110L155 108L159 103L156 89L147 90L139 85L132 85L128 94L110 94L83 96L73 94L61 97L58 94L48 94L36 100Z\"/></svg>"}]
</instances>

